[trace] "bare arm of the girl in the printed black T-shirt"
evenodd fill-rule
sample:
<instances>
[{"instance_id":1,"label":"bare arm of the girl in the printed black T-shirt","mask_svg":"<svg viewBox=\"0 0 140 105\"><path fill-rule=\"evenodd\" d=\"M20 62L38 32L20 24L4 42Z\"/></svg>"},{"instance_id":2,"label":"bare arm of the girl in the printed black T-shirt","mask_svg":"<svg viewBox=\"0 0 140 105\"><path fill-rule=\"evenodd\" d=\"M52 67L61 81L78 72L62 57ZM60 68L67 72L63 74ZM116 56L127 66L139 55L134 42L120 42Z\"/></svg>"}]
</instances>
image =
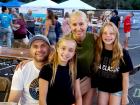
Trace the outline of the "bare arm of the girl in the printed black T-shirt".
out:
<instances>
[{"instance_id":1,"label":"bare arm of the girl in the printed black T-shirt","mask_svg":"<svg viewBox=\"0 0 140 105\"><path fill-rule=\"evenodd\" d=\"M122 105L127 104L128 86L129 86L129 72L122 73Z\"/></svg>"}]
</instances>

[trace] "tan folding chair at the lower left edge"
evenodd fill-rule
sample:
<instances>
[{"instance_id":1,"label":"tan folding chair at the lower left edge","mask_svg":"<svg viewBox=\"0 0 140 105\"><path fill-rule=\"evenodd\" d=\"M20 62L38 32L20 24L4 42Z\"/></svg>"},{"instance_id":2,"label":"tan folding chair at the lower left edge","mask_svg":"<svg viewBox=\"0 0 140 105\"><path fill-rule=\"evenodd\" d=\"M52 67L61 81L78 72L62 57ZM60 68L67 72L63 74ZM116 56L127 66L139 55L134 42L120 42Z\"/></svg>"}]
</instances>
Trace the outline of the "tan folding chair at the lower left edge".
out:
<instances>
[{"instance_id":1,"label":"tan folding chair at the lower left edge","mask_svg":"<svg viewBox=\"0 0 140 105\"><path fill-rule=\"evenodd\" d=\"M0 102L7 102L11 88L11 81L6 77L0 77Z\"/></svg>"}]
</instances>

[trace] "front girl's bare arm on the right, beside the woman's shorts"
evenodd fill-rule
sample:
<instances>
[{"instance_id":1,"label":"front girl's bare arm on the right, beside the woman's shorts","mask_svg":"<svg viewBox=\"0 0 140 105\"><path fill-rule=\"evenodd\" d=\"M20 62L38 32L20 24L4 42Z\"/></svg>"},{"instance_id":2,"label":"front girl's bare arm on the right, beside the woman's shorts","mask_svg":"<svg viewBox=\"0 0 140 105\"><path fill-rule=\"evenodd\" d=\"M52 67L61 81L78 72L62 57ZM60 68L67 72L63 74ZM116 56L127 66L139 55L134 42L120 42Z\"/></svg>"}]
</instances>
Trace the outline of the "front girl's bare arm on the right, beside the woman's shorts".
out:
<instances>
[{"instance_id":1,"label":"front girl's bare arm on the right, beside the woman's shorts","mask_svg":"<svg viewBox=\"0 0 140 105\"><path fill-rule=\"evenodd\" d=\"M76 104L75 105L82 105L82 95L81 95L81 90L80 90L80 79L77 79L75 81L75 100Z\"/></svg>"}]
</instances>

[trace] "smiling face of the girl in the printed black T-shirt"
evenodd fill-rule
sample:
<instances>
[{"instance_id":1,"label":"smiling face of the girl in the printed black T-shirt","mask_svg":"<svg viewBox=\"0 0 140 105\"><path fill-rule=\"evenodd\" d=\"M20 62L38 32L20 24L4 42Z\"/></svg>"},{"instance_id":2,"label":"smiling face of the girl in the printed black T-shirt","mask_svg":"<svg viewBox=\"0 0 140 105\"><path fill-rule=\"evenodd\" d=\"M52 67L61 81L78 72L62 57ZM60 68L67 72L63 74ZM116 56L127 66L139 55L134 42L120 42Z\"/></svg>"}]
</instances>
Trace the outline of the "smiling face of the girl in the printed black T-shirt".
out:
<instances>
[{"instance_id":1,"label":"smiling face of the girl in the printed black T-shirt","mask_svg":"<svg viewBox=\"0 0 140 105\"><path fill-rule=\"evenodd\" d=\"M102 33L102 40L105 45L105 48L112 48L115 38L116 38L116 33L113 27L110 25L105 26Z\"/></svg>"}]
</instances>

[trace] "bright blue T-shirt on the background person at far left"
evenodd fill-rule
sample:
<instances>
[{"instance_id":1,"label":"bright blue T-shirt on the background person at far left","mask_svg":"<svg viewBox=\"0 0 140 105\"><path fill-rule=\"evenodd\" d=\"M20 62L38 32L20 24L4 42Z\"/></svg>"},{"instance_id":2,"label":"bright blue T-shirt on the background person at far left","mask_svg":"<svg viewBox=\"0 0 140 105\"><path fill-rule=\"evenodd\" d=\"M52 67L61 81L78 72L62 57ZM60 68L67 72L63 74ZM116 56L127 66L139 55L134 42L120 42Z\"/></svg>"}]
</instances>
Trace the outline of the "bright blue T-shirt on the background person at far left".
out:
<instances>
[{"instance_id":1,"label":"bright blue T-shirt on the background person at far left","mask_svg":"<svg viewBox=\"0 0 140 105\"><path fill-rule=\"evenodd\" d=\"M8 28L12 21L12 17L8 13L0 14L1 27Z\"/></svg>"}]
</instances>

